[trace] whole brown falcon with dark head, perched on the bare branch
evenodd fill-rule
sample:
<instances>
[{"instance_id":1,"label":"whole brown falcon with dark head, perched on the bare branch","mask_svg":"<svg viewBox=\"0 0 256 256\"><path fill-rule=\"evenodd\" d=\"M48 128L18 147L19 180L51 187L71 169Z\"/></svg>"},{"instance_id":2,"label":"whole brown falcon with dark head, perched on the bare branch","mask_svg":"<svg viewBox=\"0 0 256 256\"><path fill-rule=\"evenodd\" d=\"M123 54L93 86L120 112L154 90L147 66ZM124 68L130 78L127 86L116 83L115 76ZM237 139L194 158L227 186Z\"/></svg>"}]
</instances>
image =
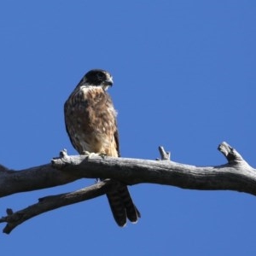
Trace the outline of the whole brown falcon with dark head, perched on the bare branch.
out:
<instances>
[{"instance_id":1,"label":"whole brown falcon with dark head, perched on the bare branch","mask_svg":"<svg viewBox=\"0 0 256 256\"><path fill-rule=\"evenodd\" d=\"M112 85L110 73L102 69L90 70L65 102L67 134L79 154L120 156L117 112L107 92ZM132 223L140 218L124 183L117 182L107 197L119 226L125 226L127 218Z\"/></svg>"}]
</instances>

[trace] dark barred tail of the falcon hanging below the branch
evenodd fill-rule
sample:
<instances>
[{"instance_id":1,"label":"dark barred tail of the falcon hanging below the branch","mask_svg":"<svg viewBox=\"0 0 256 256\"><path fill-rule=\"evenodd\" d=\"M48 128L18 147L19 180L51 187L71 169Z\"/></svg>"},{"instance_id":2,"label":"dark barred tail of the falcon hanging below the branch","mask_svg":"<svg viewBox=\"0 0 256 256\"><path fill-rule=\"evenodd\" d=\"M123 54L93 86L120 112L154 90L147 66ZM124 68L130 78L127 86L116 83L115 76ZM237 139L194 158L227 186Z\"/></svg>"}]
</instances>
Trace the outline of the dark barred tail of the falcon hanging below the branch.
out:
<instances>
[{"instance_id":1,"label":"dark barred tail of the falcon hanging below the branch","mask_svg":"<svg viewBox=\"0 0 256 256\"><path fill-rule=\"evenodd\" d=\"M127 186L123 183L117 183L117 186L107 194L108 202L116 223L123 227L128 218L132 223L136 223L141 213L134 205Z\"/></svg>"}]
</instances>

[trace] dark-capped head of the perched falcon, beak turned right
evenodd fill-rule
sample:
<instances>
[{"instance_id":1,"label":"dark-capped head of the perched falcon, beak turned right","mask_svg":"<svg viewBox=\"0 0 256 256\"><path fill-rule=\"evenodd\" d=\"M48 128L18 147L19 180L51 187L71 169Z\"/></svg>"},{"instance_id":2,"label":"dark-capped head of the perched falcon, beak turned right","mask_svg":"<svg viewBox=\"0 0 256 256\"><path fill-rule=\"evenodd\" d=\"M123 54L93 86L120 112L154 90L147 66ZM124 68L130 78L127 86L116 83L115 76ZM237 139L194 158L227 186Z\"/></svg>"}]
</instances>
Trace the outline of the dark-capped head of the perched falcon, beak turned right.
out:
<instances>
[{"instance_id":1,"label":"dark-capped head of the perched falcon, beak turned right","mask_svg":"<svg viewBox=\"0 0 256 256\"><path fill-rule=\"evenodd\" d=\"M101 86L103 90L108 90L108 87L113 85L113 77L108 71L92 69L88 73L85 73L79 85Z\"/></svg>"}]
</instances>

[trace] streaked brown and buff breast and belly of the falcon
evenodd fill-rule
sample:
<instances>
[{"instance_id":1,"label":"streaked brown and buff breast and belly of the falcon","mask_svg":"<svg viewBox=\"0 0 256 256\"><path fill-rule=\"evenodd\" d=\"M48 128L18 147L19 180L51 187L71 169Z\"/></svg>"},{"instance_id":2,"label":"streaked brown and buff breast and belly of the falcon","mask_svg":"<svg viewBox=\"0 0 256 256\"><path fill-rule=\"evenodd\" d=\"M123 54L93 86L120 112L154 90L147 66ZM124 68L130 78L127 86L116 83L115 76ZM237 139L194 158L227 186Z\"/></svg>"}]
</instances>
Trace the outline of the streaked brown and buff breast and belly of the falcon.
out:
<instances>
[{"instance_id":1,"label":"streaked brown and buff breast and belly of the falcon","mask_svg":"<svg viewBox=\"0 0 256 256\"><path fill-rule=\"evenodd\" d=\"M102 88L82 86L66 105L67 131L80 154L103 153L113 147L117 113L108 93Z\"/></svg>"}]
</instances>

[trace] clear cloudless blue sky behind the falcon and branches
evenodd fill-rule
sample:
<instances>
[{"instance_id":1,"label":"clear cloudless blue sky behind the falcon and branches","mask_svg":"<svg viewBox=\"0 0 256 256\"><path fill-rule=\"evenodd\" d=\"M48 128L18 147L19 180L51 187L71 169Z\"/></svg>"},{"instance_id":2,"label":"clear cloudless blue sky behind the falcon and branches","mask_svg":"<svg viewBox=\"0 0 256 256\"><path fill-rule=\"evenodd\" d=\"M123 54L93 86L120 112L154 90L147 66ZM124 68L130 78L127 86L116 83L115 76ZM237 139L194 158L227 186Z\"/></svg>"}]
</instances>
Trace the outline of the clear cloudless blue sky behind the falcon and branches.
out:
<instances>
[{"instance_id":1,"label":"clear cloudless blue sky behind the falcon and branches","mask_svg":"<svg viewBox=\"0 0 256 256\"><path fill-rule=\"evenodd\" d=\"M69 143L63 104L84 73L113 74L121 154L158 146L195 166L226 163L226 141L255 158L256 1L1 1L0 163L49 163ZM84 179L11 195L0 215ZM105 196L45 213L0 234L4 255L255 255L256 198L139 184L142 218L120 229ZM4 224L1 224L1 229Z\"/></svg>"}]
</instances>

